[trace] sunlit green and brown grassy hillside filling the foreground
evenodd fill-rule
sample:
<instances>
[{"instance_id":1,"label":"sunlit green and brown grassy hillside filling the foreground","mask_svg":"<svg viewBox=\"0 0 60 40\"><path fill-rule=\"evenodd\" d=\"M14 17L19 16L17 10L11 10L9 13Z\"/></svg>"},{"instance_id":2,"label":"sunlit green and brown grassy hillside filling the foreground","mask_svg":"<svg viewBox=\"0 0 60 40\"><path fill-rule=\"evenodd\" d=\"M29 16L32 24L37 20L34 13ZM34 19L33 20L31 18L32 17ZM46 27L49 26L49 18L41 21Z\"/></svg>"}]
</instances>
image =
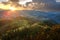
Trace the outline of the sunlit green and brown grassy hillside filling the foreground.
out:
<instances>
[{"instance_id":1,"label":"sunlit green and brown grassy hillside filling the foreground","mask_svg":"<svg viewBox=\"0 0 60 40\"><path fill-rule=\"evenodd\" d=\"M51 25L49 25L51 24ZM17 17L0 20L1 40L59 40L60 25Z\"/></svg>"}]
</instances>

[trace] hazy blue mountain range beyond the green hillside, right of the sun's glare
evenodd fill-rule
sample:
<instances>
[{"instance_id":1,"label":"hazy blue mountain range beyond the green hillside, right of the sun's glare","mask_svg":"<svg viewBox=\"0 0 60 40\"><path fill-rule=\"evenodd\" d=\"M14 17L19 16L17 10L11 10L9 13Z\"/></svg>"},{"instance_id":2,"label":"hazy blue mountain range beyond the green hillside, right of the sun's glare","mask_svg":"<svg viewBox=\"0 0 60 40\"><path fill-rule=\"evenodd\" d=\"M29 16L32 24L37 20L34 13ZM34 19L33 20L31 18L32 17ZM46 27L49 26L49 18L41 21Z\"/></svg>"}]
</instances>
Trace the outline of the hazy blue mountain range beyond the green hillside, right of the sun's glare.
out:
<instances>
[{"instance_id":1,"label":"hazy blue mountain range beyond the green hillside, right of the sun's glare","mask_svg":"<svg viewBox=\"0 0 60 40\"><path fill-rule=\"evenodd\" d=\"M19 12L20 15L27 18L33 18L40 21L52 20L60 24L60 12L41 12L35 10L23 10Z\"/></svg>"}]
</instances>

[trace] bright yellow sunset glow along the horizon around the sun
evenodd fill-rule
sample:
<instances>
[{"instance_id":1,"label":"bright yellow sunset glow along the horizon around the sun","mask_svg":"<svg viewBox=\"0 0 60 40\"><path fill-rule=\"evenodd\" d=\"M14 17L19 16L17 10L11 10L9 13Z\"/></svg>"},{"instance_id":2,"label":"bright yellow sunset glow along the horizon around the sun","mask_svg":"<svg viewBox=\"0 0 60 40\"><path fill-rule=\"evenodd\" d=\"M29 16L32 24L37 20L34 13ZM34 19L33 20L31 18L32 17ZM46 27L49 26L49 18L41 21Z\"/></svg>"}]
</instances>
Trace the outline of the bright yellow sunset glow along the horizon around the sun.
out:
<instances>
[{"instance_id":1,"label":"bright yellow sunset glow along the horizon around the sun","mask_svg":"<svg viewBox=\"0 0 60 40\"><path fill-rule=\"evenodd\" d=\"M14 10L31 10L31 8L28 8L28 7L24 8L23 6L20 7L19 5L18 5L18 7L16 7L16 5L13 5L12 3L6 4L6 5L3 3L0 3L0 9L12 10L12 11L14 11Z\"/></svg>"}]
</instances>

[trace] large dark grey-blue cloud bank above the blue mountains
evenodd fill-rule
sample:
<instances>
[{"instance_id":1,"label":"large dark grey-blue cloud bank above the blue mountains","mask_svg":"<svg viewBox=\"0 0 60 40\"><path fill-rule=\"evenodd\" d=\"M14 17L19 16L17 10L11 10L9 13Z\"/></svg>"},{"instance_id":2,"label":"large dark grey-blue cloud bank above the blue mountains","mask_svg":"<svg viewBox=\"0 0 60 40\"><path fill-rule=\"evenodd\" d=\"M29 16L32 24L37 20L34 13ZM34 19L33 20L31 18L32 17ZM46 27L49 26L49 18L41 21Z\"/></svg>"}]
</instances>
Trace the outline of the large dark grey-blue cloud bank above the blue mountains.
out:
<instances>
[{"instance_id":1,"label":"large dark grey-blue cloud bank above the blue mountains","mask_svg":"<svg viewBox=\"0 0 60 40\"><path fill-rule=\"evenodd\" d=\"M56 3L55 0L33 0L33 2L38 3L34 9L45 11L60 11L60 3ZM39 5L40 2L42 3L42 5Z\"/></svg>"}]
</instances>

